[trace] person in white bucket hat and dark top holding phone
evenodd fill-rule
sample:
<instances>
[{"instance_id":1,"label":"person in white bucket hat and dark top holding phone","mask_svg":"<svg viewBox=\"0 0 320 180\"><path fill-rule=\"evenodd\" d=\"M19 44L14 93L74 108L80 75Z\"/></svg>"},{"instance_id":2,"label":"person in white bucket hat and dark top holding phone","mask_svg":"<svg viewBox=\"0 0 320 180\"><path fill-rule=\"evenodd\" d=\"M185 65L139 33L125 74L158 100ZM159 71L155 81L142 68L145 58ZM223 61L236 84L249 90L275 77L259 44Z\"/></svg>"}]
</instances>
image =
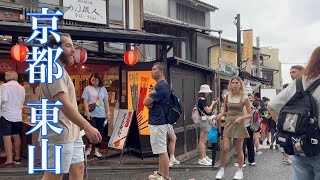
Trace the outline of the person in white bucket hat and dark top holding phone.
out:
<instances>
[{"instance_id":1,"label":"person in white bucket hat and dark top holding phone","mask_svg":"<svg viewBox=\"0 0 320 180\"><path fill-rule=\"evenodd\" d=\"M206 143L208 139L208 132L210 131L210 128L211 128L210 123L212 123L214 119L212 110L218 104L218 99L215 101L212 101L210 105L207 103L207 98L210 93L212 93L212 91L210 90L209 85L207 84L201 85L200 91L199 91L199 99L198 99L198 111L201 116L201 121L199 123L200 139L199 139L199 162L198 163L204 166L212 165L212 159L210 159L206 155Z\"/></svg>"}]
</instances>

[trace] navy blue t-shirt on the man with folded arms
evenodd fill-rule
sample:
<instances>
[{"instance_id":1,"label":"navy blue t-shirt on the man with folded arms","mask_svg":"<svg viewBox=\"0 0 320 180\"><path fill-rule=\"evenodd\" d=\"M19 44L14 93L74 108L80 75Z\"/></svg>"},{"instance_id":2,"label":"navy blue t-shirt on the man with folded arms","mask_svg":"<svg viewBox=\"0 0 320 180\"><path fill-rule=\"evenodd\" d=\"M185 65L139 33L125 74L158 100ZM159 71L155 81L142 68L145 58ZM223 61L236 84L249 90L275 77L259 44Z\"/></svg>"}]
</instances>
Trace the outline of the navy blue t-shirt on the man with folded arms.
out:
<instances>
[{"instance_id":1,"label":"navy blue t-shirt on the man with folded arms","mask_svg":"<svg viewBox=\"0 0 320 180\"><path fill-rule=\"evenodd\" d=\"M166 80L161 80L153 88L150 98L154 99L153 106L149 109L149 124L163 125L168 124L166 114L169 111L170 105L170 90Z\"/></svg>"}]
</instances>

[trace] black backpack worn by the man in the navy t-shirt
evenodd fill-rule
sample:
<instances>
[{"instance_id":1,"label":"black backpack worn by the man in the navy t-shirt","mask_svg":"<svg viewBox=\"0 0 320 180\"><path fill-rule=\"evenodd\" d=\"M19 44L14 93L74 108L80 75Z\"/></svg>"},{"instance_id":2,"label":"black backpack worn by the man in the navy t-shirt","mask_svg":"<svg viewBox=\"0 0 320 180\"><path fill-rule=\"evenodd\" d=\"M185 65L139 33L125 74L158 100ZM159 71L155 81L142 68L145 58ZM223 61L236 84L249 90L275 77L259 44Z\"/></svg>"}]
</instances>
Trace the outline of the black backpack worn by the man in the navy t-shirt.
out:
<instances>
[{"instance_id":1,"label":"black backpack worn by the man in the navy t-shirt","mask_svg":"<svg viewBox=\"0 0 320 180\"><path fill-rule=\"evenodd\" d=\"M162 111L164 112L164 114L166 116L167 122L169 124L175 124L182 114L182 108L181 108L181 104L179 102L178 97L172 93L168 84L167 84L167 86L170 91L170 104L169 104L168 113L165 113L163 106L161 106L161 107L162 107Z\"/></svg>"}]
</instances>

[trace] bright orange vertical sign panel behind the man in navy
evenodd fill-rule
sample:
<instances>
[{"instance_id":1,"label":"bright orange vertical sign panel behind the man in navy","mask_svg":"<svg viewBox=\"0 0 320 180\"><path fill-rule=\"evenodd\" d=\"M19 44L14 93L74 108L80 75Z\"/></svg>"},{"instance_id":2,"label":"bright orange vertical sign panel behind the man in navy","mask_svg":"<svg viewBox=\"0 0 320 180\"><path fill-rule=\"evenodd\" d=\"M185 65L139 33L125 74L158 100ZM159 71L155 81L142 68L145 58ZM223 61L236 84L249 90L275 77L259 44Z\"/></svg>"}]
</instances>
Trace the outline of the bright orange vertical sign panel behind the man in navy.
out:
<instances>
[{"instance_id":1,"label":"bright orange vertical sign panel behind the man in navy","mask_svg":"<svg viewBox=\"0 0 320 180\"><path fill-rule=\"evenodd\" d=\"M148 108L143 100L149 96L156 81L151 77L151 71L128 71L128 109L135 110L140 135L150 135L148 128Z\"/></svg>"}]
</instances>

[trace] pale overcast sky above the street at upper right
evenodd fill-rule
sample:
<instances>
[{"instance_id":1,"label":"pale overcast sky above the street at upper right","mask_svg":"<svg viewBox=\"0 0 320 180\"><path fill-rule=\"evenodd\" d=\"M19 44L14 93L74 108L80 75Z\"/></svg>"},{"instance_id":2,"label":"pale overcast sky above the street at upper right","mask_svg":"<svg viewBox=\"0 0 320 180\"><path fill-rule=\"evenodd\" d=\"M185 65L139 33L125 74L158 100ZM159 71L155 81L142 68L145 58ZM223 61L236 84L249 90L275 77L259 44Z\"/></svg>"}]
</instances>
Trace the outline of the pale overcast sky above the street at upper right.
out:
<instances>
[{"instance_id":1,"label":"pale overcast sky above the street at upper right","mask_svg":"<svg viewBox=\"0 0 320 180\"><path fill-rule=\"evenodd\" d=\"M237 14L241 14L241 28L253 29L260 37L260 46L279 48L283 63L307 63L320 45L319 0L203 0L219 8L211 14L211 28L223 30L222 36L236 41ZM291 82L289 69L282 65L284 83ZM302 64L305 65L305 64Z\"/></svg>"}]
</instances>

